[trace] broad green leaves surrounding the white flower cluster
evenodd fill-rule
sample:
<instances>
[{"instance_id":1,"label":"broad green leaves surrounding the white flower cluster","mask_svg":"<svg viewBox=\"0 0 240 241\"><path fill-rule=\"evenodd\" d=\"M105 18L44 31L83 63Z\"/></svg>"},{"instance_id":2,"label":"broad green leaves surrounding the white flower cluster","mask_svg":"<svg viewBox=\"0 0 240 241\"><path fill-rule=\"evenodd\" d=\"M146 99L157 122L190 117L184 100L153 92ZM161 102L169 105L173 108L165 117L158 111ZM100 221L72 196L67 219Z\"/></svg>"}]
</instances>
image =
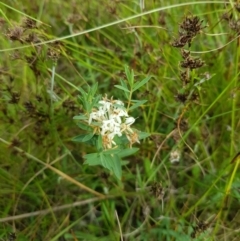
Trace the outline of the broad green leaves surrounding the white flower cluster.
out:
<instances>
[{"instance_id":1,"label":"broad green leaves surrounding the white flower cluster","mask_svg":"<svg viewBox=\"0 0 240 241\"><path fill-rule=\"evenodd\" d=\"M115 85L115 87L124 91L125 96L127 97L129 103L131 101L134 102L134 105L130 108L132 110L146 102L146 101L131 100L131 97L134 91L138 90L140 87L145 85L150 80L150 77L147 77L142 81L135 82L133 70L130 71L129 68L126 66L125 73L127 76L127 83L130 86L130 89L128 89L127 84L125 83L124 80L121 80L121 85ZM79 116L75 116L73 118L77 121L83 121L83 122L78 122L77 123L78 126L81 129L88 131L90 133L76 136L72 140L75 142L87 142L88 144L91 144L92 146L96 147L97 149L96 153L91 153L84 156L85 164L88 164L89 166L96 166L96 165L103 166L104 168L112 172L118 179L121 179L121 176L122 176L121 163L123 162L121 158L133 155L135 152L138 151L138 148L131 148L131 149L126 148L126 144L128 142L126 136L121 136L121 137L116 136L114 137L114 141L116 141L117 146L112 149L107 149L107 150L104 149L104 144L103 144L104 140L102 135L95 134L96 132L95 128L98 128L98 127L100 128L101 124L94 122L95 128L91 129L90 123L88 123L88 118L90 118L89 116L91 116L91 111L94 108L99 106L98 102L100 100L100 96L98 95L95 97L96 91L97 91L97 84L94 84L92 87L88 87L87 92L85 92L82 88L79 88L79 91L81 92L81 95L79 96L79 100L83 107L84 113L80 114ZM113 106L116 108L122 108L118 104L113 104ZM89 125L87 125L87 123ZM149 136L149 134L144 132L139 132L139 131L137 135L138 135L137 140L141 140ZM91 139L94 136L95 136L94 138L95 140L91 141Z\"/></svg>"}]
</instances>

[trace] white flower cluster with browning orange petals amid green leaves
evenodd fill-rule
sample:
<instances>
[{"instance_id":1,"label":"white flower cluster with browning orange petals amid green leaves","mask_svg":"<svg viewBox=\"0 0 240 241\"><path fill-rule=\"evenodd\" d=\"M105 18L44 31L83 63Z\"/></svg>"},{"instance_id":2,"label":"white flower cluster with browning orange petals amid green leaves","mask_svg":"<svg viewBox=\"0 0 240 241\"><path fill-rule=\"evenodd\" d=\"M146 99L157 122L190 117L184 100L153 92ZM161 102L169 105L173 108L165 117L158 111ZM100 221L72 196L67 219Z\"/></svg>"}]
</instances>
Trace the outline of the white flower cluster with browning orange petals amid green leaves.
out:
<instances>
[{"instance_id":1,"label":"white flower cluster with browning orange petals amid green leaves","mask_svg":"<svg viewBox=\"0 0 240 241\"><path fill-rule=\"evenodd\" d=\"M139 142L138 134L130 127L135 122L135 118L128 115L122 101L104 97L98 104L98 109L90 113L88 124L95 126L95 132L101 134L105 149L116 145L114 137L122 136L123 133L126 134L130 146Z\"/></svg>"}]
</instances>

